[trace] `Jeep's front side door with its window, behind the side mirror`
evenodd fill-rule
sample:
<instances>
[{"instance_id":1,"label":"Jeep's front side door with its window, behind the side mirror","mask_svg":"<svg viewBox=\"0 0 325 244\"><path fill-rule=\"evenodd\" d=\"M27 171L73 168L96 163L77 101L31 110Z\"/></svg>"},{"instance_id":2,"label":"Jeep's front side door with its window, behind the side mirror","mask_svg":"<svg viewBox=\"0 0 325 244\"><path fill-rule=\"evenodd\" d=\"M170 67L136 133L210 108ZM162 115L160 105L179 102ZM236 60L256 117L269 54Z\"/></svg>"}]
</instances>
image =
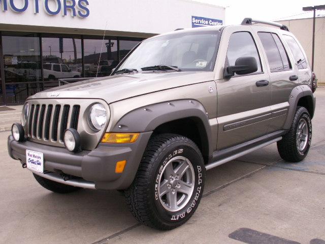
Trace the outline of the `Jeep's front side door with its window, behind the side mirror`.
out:
<instances>
[{"instance_id":1,"label":"Jeep's front side door with its window, behind the side mirror","mask_svg":"<svg viewBox=\"0 0 325 244\"><path fill-rule=\"evenodd\" d=\"M235 74L231 78L223 78L220 72L221 79L216 80L218 150L265 135L269 126L270 77L264 57L261 56L261 47L255 41L255 34L246 28L247 31L243 31L242 27L240 31L236 31L236 26L230 26L228 32L225 28L222 35L223 44L220 43L220 47L228 46L228 49L221 52L221 59L218 60L224 66L219 70L234 66L240 57L254 57L258 69L254 73Z\"/></svg>"}]
</instances>

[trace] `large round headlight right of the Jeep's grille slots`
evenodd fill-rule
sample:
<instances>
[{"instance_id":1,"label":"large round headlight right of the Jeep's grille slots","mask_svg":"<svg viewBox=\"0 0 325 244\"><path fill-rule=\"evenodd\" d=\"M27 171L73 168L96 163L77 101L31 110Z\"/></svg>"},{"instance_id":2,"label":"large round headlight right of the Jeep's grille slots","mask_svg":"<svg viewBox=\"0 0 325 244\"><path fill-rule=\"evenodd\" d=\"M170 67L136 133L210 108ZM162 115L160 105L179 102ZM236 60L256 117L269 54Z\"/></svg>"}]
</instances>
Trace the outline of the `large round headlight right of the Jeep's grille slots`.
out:
<instances>
[{"instance_id":1,"label":"large round headlight right of the Jeep's grille slots","mask_svg":"<svg viewBox=\"0 0 325 244\"><path fill-rule=\"evenodd\" d=\"M88 117L89 126L95 131L100 131L104 128L106 120L107 112L104 105L100 103L92 105Z\"/></svg>"}]
</instances>

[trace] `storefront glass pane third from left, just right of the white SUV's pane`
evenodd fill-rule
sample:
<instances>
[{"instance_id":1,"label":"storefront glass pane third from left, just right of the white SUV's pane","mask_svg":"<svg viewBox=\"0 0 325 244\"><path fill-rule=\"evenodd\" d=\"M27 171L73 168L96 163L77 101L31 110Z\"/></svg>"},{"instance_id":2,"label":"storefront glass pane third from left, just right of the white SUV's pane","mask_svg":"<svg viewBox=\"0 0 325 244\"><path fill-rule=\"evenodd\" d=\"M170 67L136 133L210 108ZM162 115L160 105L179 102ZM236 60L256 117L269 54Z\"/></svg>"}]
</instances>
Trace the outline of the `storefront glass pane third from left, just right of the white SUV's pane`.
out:
<instances>
[{"instance_id":1,"label":"storefront glass pane third from left, just right of the white SUV's pane","mask_svg":"<svg viewBox=\"0 0 325 244\"><path fill-rule=\"evenodd\" d=\"M85 77L109 76L118 65L117 41L84 39L83 43Z\"/></svg>"}]
</instances>

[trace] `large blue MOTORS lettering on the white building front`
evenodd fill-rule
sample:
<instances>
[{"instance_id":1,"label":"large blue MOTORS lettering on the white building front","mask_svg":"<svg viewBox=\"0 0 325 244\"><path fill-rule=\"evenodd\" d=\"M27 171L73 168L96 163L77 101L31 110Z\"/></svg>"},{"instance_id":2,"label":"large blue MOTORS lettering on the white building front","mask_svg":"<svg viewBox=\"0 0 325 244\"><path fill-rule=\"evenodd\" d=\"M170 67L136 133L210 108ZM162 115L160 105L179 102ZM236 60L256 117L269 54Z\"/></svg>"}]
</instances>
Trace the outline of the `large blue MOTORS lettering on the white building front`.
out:
<instances>
[{"instance_id":1,"label":"large blue MOTORS lettering on the white building front","mask_svg":"<svg viewBox=\"0 0 325 244\"><path fill-rule=\"evenodd\" d=\"M55 7L53 8L53 4ZM49 15L67 16L68 11L72 17L86 18L89 16L88 0L0 0L2 11L11 10L23 13L28 8L34 9L34 14L45 11Z\"/></svg>"}]
</instances>

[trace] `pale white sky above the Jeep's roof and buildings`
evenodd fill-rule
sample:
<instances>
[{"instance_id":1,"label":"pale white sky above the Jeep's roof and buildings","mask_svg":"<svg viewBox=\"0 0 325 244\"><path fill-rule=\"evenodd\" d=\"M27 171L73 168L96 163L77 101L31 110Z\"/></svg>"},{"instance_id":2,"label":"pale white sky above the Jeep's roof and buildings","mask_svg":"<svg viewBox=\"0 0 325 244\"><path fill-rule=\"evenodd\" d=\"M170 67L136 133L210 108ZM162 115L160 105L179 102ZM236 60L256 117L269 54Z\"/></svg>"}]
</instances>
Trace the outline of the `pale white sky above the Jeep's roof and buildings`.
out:
<instances>
[{"instance_id":1,"label":"pale white sky above the Jeep's roof and buildings","mask_svg":"<svg viewBox=\"0 0 325 244\"><path fill-rule=\"evenodd\" d=\"M312 12L304 12L303 7L325 5L324 0L194 0L206 4L226 7L225 24L240 24L246 17L258 20L283 20L312 17ZM324 10L318 10L316 16L324 16Z\"/></svg>"}]
</instances>

